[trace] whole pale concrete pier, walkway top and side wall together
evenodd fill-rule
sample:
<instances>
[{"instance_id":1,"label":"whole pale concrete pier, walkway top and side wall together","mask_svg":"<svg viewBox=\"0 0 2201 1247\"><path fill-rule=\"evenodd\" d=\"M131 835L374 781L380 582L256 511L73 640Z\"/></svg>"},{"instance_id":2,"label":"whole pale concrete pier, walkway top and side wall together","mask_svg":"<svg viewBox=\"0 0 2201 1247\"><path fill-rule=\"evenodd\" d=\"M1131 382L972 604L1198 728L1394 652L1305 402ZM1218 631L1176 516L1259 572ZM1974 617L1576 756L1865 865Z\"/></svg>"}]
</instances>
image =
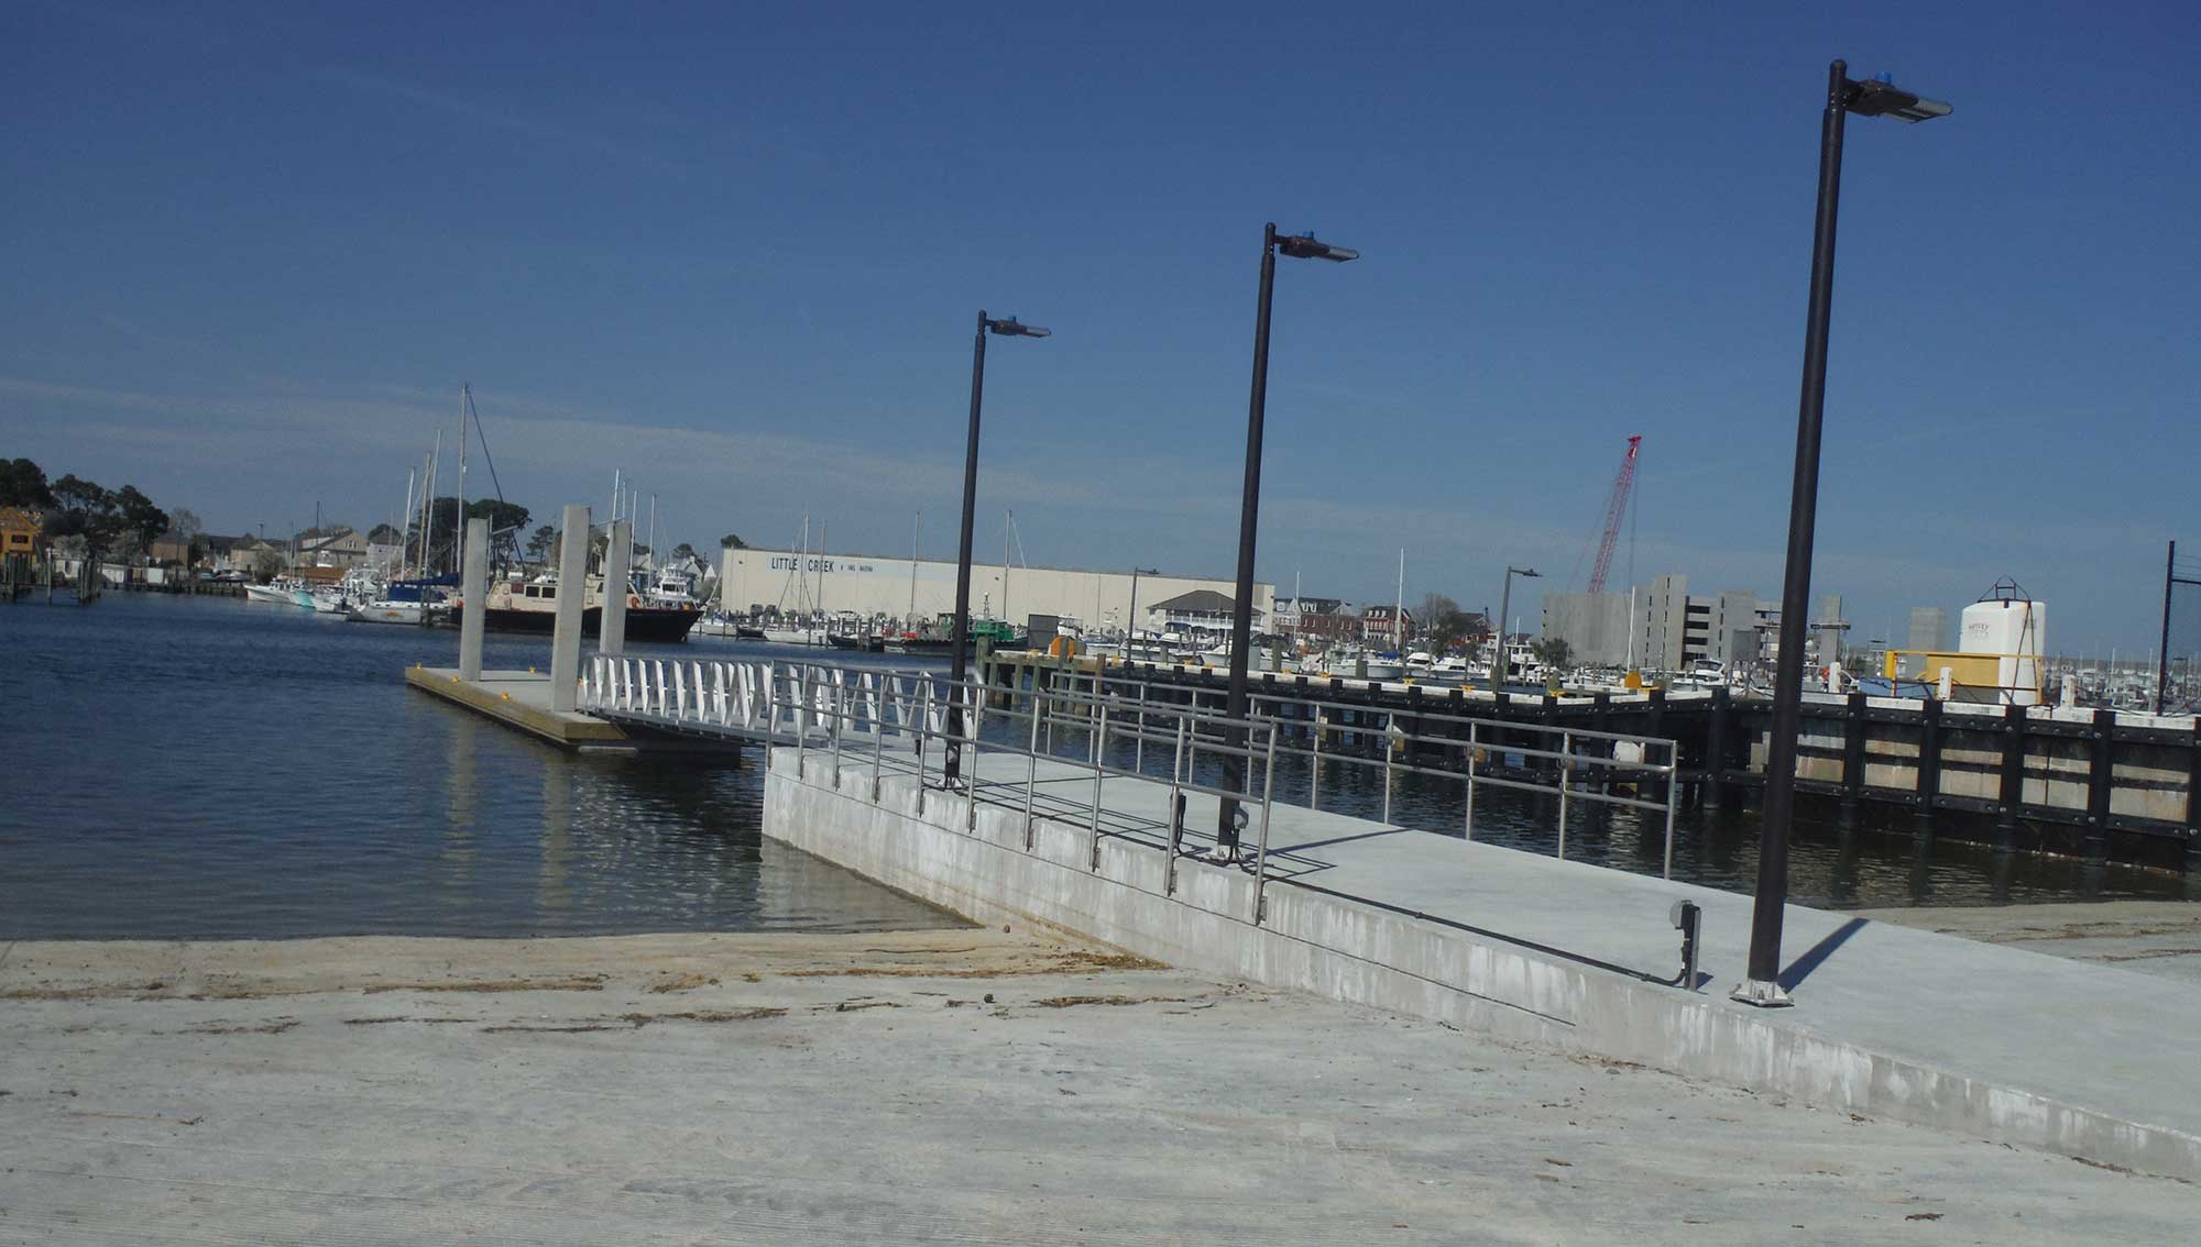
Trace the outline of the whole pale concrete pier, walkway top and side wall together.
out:
<instances>
[{"instance_id":1,"label":"whole pale concrete pier, walkway top and side wall together","mask_svg":"<svg viewBox=\"0 0 2201 1247\"><path fill-rule=\"evenodd\" d=\"M1807 972L1827 972L1811 979L1807 1007L1759 1012L1726 1001L1726 985L1660 983L1677 972L1677 937L1660 930L1666 902L1706 906L1706 970L1717 981L1741 963L1748 897L1294 809L1305 823L1299 847L1332 860L1299 882L1272 878L1257 924L1255 880L1241 871L1180 860L1171 893L1169 860L1151 842L1105 836L1096 862L1089 827L1039 818L1026 849L1021 809L982 805L971 827L962 796L920 794L913 776L887 774L874 801L872 783L865 765L775 750L764 829L977 922L1034 924L1189 970L2201 1179L2201 1106L2181 1056L2181 1036L2201 1027L2201 994L2183 987L1792 906L1792 950L1811 948L1820 961ZM1329 880L1376 869L1347 853L1389 853L1382 869L1400 878L1486 891L1448 882L1444 897L1461 897L1450 913L1413 884L1395 897L1369 886L1338 895ZM2111 1020L2104 1009L2120 1001L2128 1007ZM2007 1034L2014 1023L1999 1009L2036 1016L2038 1034ZM2102 1029L2073 1034L2076 1018ZM2117 1049L2113 1062L2104 1045Z\"/></svg>"}]
</instances>

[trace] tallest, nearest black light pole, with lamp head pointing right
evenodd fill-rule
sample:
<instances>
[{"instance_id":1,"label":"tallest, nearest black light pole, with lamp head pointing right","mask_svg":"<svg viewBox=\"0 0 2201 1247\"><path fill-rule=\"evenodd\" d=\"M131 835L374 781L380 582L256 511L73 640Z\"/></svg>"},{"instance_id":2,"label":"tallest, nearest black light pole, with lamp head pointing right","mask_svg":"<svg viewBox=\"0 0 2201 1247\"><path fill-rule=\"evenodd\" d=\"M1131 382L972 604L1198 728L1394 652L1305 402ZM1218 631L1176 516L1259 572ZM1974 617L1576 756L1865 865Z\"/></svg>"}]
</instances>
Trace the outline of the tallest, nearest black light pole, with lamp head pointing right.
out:
<instances>
[{"instance_id":1,"label":"tallest, nearest black light pole, with lamp head pointing right","mask_svg":"<svg viewBox=\"0 0 2201 1247\"><path fill-rule=\"evenodd\" d=\"M1750 913L1750 970L1734 998L1787 1005L1781 987L1781 911L1787 904L1787 840L1796 814L1796 724L1803 708L1803 633L1811 598L1811 526L1818 519L1818 433L1827 407L1827 321L1833 312L1833 218L1842 200L1842 123L1860 117L1930 121L1950 108L1893 86L1886 75L1853 81L1844 62L1827 66L1827 112L1818 130L1818 224L1811 235L1811 306L1803 339L1803 398L1796 407L1796 482L1789 493L1787 572L1781 578L1781 653L1774 724L1765 750L1765 831Z\"/></svg>"}]
</instances>

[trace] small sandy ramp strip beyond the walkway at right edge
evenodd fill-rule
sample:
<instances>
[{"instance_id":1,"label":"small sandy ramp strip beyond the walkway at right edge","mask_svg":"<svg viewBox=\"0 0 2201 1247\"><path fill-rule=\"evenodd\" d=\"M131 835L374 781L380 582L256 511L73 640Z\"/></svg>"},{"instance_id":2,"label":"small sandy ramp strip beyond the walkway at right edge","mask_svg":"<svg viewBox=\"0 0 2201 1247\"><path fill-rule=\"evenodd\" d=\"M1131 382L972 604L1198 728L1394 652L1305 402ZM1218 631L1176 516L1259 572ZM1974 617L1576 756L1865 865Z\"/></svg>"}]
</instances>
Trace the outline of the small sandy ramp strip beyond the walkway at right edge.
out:
<instances>
[{"instance_id":1,"label":"small sandy ramp strip beyond the walkway at right edge","mask_svg":"<svg viewBox=\"0 0 2201 1247\"><path fill-rule=\"evenodd\" d=\"M1858 917L2201 983L2201 904L1866 908Z\"/></svg>"}]
</instances>

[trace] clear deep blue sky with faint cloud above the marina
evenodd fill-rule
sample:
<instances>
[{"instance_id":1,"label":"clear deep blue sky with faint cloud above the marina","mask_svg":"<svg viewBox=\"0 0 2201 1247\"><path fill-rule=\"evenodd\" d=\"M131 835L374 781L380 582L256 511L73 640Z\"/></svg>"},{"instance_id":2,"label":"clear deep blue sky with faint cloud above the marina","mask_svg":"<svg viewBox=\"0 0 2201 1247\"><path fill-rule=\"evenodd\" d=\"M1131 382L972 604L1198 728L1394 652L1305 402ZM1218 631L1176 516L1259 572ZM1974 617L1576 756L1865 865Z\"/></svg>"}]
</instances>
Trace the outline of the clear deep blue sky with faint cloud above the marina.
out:
<instances>
[{"instance_id":1,"label":"clear deep blue sky with faint cloud above the marina","mask_svg":"<svg viewBox=\"0 0 2201 1247\"><path fill-rule=\"evenodd\" d=\"M671 541L1228 574L1263 220L1261 576L1778 596L1825 68L1853 119L1818 592L2016 576L2153 644L2201 433L2192 4L180 7L0 13L0 455L213 530L390 519L471 380L508 497ZM480 493L484 475L469 477ZM647 504L645 504L647 506ZM1521 596L1516 594L1516 603Z\"/></svg>"}]
</instances>

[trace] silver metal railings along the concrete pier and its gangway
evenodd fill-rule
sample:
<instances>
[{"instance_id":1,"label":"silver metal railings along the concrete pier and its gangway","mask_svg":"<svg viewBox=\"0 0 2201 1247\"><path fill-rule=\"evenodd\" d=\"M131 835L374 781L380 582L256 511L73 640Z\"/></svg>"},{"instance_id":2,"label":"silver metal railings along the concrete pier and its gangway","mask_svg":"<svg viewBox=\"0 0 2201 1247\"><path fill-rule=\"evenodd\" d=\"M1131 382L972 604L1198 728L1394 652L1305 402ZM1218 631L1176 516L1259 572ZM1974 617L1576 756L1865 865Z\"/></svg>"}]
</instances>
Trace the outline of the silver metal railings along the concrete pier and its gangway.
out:
<instances>
[{"instance_id":1,"label":"silver metal railings along the concrete pier and its gangway","mask_svg":"<svg viewBox=\"0 0 2201 1247\"><path fill-rule=\"evenodd\" d=\"M1078 688L1078 682L1085 686ZM1112 691L1112 684L1116 691ZM1305 717L1279 715L1283 704L1303 706L1307 713ZM1169 748L1169 807L1162 818L1162 825L1169 829L1164 893L1175 891L1178 858L1184 853L1184 798L1189 794L1206 794L1219 801L1239 801L1246 807L1259 809L1250 862L1255 875L1255 924L1266 917L1268 838L1272 809L1279 801L1279 757L1307 759L1310 809L1321 809L1323 763L1380 768L1384 781L1384 825L1391 825L1391 792L1398 774L1457 779L1464 783L1466 816L1461 834L1468 838L1475 836L1477 785L1556 794L1561 858L1567 853L1567 816L1574 801L1657 812L1664 814L1666 823L1662 871L1666 878L1673 875L1679 748L1675 741L1660 737L1505 724L1466 715L1404 715L1277 695L1257 695L1252 702L1255 715L1233 719L1215 710L1202 710L1195 704L1156 699L1149 684L1109 677L1105 671L1074 673L1070 686L1041 686L1034 682L1030 688L1001 688L979 680L955 684L935 671L764 660L663 660L603 653L592 655L583 669L579 706L599 717L629 719L667 730L790 743L797 757L812 748L830 750L836 772L852 748L869 750L874 801L887 770L887 748L891 741L896 752L907 748L913 757L920 803L929 790L953 787L966 794L966 834L977 831L977 809L982 803L1010 809L1021 807L1026 851L1034 845L1039 787L1059 779L1050 776L1043 781L1041 763L1076 765L1092 774L1092 798L1081 807L1087 827L1089 869L1100 869L1103 814L1107 812L1103 801L1105 781L1109 776L1158 781L1158 774L1147 772L1147 748ZM962 713L955 715L953 710ZM1332 724L1327 715L1340 710L1387 715L1387 721L1382 728ZM1409 732L1400 726L1402 717L1415 719L1417 726L1437 724L1450 732L1466 726L1466 739L1424 730ZM1021 724L1023 730L1017 732L1015 741L986 739L986 719L1008 719ZM1288 741L1294 726L1307 728L1310 741L1305 746ZM1081 732L1085 746L1081 752L1085 757L1061 754L1054 743L1056 730ZM1323 737L1327 732L1380 737L1384 741L1382 759L1340 752L1336 748L1325 752ZM1505 735L1503 743L1499 743L1499 732ZM1538 743L1521 743L1523 737ZM1131 741L1129 768L1109 761L1109 746L1114 741ZM935 746L940 752L938 772L931 759ZM1464 750L1466 770L1400 761L1400 754L1411 759L1415 746L1424 750ZM1585 752L1585 746L1591 752ZM1501 752L1521 757L1530 765L1508 774L1492 774ZM1635 757L1622 757L1624 752L1633 752ZM1021 785L1017 781L979 776L975 761L982 754L1026 759ZM1653 761L1653 754L1662 754L1664 761ZM1235 772L1235 781L1204 783L1200 779L1200 761L1204 757L1230 763L1224 770ZM962 765L964 761L971 765ZM1545 768L1536 768L1536 761L1552 763L1547 768L1550 783L1541 781ZM944 774L951 765L957 772L953 781ZM902 770L900 761L896 770ZM1576 783L1578 772L1602 772L1609 783ZM1660 779L1664 779L1666 798L1651 801L1642 796L1644 781L1655 785ZM1638 794L1620 796L1609 792L1611 781L1633 781ZM1017 792L1019 787L1021 794Z\"/></svg>"}]
</instances>

